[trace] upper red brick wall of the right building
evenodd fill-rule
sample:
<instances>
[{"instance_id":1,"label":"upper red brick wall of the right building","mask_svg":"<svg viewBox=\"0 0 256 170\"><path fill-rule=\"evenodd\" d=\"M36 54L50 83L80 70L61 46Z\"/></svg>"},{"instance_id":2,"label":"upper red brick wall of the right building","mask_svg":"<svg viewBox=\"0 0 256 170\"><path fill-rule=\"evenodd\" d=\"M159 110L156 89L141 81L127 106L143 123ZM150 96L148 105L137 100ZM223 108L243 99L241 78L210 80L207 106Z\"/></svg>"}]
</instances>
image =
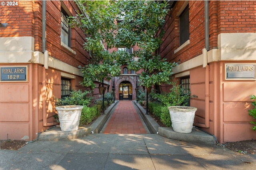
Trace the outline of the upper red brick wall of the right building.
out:
<instances>
[{"instance_id":1,"label":"upper red brick wall of the right building","mask_svg":"<svg viewBox=\"0 0 256 170\"><path fill-rule=\"evenodd\" d=\"M204 49L204 1L189 1L190 44L174 54L179 44L179 17L184 1L177 1L166 18L161 57L183 63ZM256 1L209 1L210 49L217 49L220 33L255 33Z\"/></svg>"}]
</instances>

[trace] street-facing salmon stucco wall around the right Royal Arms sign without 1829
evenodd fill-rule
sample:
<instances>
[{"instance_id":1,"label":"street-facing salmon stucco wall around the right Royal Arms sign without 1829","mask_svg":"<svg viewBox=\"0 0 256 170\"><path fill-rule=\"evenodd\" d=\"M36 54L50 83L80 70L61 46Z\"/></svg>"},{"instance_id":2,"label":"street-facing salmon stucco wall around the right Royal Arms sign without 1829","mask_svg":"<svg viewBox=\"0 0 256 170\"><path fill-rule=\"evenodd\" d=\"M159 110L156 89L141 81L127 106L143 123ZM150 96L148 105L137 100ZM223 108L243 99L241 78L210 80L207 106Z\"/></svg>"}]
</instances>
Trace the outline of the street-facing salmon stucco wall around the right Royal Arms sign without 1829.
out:
<instances>
[{"instance_id":1,"label":"street-facing salmon stucco wall around the right Royal Arms sign without 1829","mask_svg":"<svg viewBox=\"0 0 256 170\"><path fill-rule=\"evenodd\" d=\"M255 80L225 80L226 63L255 62L220 62L220 141L241 141L256 139L252 116L248 109L252 109L250 96L256 94ZM255 120L254 120L255 121Z\"/></svg>"}]
</instances>

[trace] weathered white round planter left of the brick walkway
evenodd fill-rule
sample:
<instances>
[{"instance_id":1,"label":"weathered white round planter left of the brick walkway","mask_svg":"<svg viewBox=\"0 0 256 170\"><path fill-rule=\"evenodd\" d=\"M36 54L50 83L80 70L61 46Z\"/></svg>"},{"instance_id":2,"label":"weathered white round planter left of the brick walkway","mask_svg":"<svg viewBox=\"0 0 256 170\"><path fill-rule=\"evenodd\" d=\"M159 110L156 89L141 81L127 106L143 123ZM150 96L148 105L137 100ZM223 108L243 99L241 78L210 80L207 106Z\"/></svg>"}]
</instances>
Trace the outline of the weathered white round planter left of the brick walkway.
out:
<instances>
[{"instance_id":1,"label":"weathered white round planter left of the brick walkway","mask_svg":"<svg viewBox=\"0 0 256 170\"><path fill-rule=\"evenodd\" d=\"M79 127L80 117L84 106L57 106L61 131L76 131Z\"/></svg>"}]
</instances>

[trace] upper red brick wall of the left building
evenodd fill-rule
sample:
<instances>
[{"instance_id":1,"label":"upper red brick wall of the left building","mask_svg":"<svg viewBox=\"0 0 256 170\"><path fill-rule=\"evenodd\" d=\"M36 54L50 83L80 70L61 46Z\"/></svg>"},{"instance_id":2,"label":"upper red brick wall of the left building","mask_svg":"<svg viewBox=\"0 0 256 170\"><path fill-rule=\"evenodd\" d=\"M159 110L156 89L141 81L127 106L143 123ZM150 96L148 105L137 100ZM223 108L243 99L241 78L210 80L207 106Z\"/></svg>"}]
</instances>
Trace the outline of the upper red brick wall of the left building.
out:
<instances>
[{"instance_id":1,"label":"upper red brick wall of the left building","mask_svg":"<svg viewBox=\"0 0 256 170\"><path fill-rule=\"evenodd\" d=\"M5 1L6 3L7 1ZM63 1L75 16L78 10L74 1ZM60 44L61 2L46 1L46 50L49 55L74 67L88 63L89 54L83 49L85 36L81 29L72 28L71 48L76 55ZM18 1L15 6L0 6L0 21L8 23L0 28L1 37L31 36L35 40L35 51L42 51L42 1Z\"/></svg>"}]
</instances>

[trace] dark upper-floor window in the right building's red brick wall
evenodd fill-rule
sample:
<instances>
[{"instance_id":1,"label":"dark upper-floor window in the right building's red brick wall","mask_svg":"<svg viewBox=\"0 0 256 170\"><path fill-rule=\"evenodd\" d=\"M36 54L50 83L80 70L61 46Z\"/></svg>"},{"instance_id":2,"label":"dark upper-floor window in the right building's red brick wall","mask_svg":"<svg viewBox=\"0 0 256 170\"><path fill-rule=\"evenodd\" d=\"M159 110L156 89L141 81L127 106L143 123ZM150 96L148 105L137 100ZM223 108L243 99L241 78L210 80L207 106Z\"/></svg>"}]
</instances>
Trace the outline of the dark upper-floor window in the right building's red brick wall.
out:
<instances>
[{"instance_id":1,"label":"dark upper-floor window in the right building's red brick wall","mask_svg":"<svg viewBox=\"0 0 256 170\"><path fill-rule=\"evenodd\" d=\"M189 12L188 5L179 16L180 19L180 45L189 39Z\"/></svg>"}]
</instances>

